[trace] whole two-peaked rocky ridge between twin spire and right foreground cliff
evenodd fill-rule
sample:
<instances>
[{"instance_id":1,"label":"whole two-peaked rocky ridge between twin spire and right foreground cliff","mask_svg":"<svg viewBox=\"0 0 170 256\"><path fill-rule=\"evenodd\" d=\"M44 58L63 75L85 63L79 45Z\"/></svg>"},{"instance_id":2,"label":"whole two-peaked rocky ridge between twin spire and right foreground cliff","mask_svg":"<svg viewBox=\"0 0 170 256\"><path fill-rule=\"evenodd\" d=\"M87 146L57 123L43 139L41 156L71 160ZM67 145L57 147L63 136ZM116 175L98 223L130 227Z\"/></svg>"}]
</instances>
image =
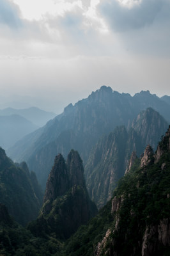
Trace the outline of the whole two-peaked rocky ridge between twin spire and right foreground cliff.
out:
<instances>
[{"instance_id":1,"label":"whole two-peaked rocky ridge between twin spire and right foreground cliff","mask_svg":"<svg viewBox=\"0 0 170 256\"><path fill-rule=\"evenodd\" d=\"M155 148L167 126L157 111L148 108L137 115L128 131L124 126L117 127L98 141L85 166L89 196L98 208L111 199L118 180L128 169L132 152L140 156L149 143Z\"/></svg>"}]
</instances>

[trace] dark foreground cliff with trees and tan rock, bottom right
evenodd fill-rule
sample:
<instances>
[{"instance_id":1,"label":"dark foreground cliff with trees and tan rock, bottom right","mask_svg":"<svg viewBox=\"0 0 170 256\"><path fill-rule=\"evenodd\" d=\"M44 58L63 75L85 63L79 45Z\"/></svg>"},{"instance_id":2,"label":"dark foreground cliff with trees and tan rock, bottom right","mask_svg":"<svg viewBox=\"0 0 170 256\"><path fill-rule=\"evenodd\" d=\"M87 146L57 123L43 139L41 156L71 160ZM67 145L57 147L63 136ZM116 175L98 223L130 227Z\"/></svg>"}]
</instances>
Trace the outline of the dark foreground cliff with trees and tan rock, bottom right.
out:
<instances>
[{"instance_id":1,"label":"dark foreground cliff with trees and tan rock, bottom right","mask_svg":"<svg viewBox=\"0 0 170 256\"><path fill-rule=\"evenodd\" d=\"M114 193L117 195L112 199L114 228L109 229L109 235L108 231L106 232L103 239L105 243L103 241L98 243L95 255L169 255L169 138L170 126L166 136L160 141L159 150L157 148L155 156L150 145L146 147L144 156L141 159L141 170L139 169L136 173L132 173L132 175L136 175L136 178L132 179L130 172L125 175L124 183L128 182L127 188L122 183L118 187L117 193ZM155 163L154 158L156 160ZM162 168L162 163L164 168ZM136 188L128 189L130 185L128 177L133 181L136 180ZM134 192L136 195L132 196ZM146 196L145 202L141 198L141 193ZM147 193L149 194L147 195ZM135 200L138 200L137 204L135 204ZM139 213L140 211L143 211L142 214ZM123 220L124 214L127 214L126 221ZM135 227L137 227L137 232L135 232ZM111 237L114 238L112 239ZM121 241L122 244L120 244ZM109 247L108 243L110 244ZM107 247L105 244L107 244Z\"/></svg>"}]
</instances>

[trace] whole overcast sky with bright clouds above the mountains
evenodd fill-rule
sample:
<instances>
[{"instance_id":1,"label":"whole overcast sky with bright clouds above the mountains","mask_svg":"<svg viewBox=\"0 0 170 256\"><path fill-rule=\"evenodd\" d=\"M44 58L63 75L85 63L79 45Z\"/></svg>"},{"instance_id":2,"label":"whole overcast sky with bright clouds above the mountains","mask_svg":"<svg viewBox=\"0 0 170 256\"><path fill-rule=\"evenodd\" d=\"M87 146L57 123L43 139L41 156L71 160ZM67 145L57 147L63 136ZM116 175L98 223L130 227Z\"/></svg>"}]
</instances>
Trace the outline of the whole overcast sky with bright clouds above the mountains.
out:
<instances>
[{"instance_id":1,"label":"whole overcast sky with bright clouds above the mountains","mask_svg":"<svg viewBox=\"0 0 170 256\"><path fill-rule=\"evenodd\" d=\"M170 95L170 0L0 0L0 108Z\"/></svg>"}]
</instances>

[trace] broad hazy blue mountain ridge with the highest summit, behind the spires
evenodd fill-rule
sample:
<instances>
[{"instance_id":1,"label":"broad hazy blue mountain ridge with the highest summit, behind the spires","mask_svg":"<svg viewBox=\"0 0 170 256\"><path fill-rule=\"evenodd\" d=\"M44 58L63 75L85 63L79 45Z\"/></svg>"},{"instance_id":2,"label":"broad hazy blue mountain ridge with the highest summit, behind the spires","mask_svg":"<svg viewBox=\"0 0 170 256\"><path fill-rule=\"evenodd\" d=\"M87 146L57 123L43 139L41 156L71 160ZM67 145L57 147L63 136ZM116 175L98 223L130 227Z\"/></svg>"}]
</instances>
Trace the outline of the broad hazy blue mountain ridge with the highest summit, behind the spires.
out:
<instances>
[{"instance_id":1,"label":"broad hazy blue mountain ridge with the highest summit, behind the spires","mask_svg":"<svg viewBox=\"0 0 170 256\"><path fill-rule=\"evenodd\" d=\"M118 125L127 126L140 111L148 107L170 120L169 105L156 95L147 91L132 97L128 93L112 92L110 87L102 86L87 99L80 100L74 106L68 105L61 115L19 141L8 150L8 154L16 161L27 161L45 188L52 161L58 152L66 157L71 148L75 148L86 163L91 148L101 136Z\"/></svg>"}]
</instances>

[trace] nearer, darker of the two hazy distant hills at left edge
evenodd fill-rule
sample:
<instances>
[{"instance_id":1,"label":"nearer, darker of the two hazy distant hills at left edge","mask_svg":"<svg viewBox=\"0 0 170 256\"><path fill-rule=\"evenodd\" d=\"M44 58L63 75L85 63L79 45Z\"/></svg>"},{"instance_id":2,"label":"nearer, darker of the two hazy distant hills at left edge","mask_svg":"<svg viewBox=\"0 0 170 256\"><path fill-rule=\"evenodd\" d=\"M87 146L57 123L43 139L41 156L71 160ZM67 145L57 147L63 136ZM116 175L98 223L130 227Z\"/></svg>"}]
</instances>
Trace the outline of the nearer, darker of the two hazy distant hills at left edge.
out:
<instances>
[{"instance_id":1,"label":"nearer, darker of the two hazy distant hills at left edge","mask_svg":"<svg viewBox=\"0 0 170 256\"><path fill-rule=\"evenodd\" d=\"M38 126L19 115L0 116L0 145L5 149L12 147L37 128Z\"/></svg>"}]
</instances>

